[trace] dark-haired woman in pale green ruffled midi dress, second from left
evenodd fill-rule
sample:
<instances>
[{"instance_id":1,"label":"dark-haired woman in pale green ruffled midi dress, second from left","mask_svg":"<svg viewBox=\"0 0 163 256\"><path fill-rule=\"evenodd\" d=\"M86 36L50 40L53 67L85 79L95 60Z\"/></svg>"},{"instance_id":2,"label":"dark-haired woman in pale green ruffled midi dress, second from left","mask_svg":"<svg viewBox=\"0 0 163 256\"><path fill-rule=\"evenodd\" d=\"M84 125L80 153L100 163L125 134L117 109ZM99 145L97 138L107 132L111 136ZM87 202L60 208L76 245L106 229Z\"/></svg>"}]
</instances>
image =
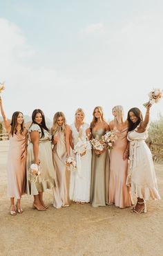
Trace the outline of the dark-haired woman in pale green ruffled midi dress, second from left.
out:
<instances>
[{"instance_id":1,"label":"dark-haired woman in pale green ruffled midi dress, second from left","mask_svg":"<svg viewBox=\"0 0 163 256\"><path fill-rule=\"evenodd\" d=\"M41 167L41 181L31 182L27 177L27 192L34 196L33 208L37 210L46 210L48 206L43 201L43 192L46 189L55 187L55 205L56 208L61 207L61 199L59 196L57 176L54 165L52 163L51 136L43 111L35 109L32 113L32 125L29 128L28 154L27 154L27 174L30 165L35 163Z\"/></svg>"}]
</instances>

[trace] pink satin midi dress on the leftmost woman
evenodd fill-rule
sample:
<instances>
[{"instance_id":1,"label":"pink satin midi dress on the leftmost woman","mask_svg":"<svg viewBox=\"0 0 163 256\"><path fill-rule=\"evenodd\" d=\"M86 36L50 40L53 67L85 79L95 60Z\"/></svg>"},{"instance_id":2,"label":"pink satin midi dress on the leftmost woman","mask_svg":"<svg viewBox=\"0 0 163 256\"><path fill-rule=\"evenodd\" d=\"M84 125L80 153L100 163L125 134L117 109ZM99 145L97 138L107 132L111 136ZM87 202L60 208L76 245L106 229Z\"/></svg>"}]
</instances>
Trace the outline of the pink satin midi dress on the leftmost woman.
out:
<instances>
[{"instance_id":1,"label":"pink satin midi dress on the leftmost woman","mask_svg":"<svg viewBox=\"0 0 163 256\"><path fill-rule=\"evenodd\" d=\"M26 193L26 143L27 135L9 135L8 151L8 196L21 199ZM25 154L23 158L21 156Z\"/></svg>"}]
</instances>

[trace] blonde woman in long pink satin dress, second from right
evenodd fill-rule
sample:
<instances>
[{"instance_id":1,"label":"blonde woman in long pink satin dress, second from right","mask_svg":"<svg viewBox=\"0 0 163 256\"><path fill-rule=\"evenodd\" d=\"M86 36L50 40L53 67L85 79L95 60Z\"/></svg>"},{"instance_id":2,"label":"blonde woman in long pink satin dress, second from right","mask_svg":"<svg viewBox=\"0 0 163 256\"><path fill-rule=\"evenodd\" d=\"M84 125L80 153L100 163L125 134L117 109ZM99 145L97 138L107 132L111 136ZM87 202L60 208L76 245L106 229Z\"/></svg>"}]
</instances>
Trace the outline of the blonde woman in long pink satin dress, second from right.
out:
<instances>
[{"instance_id":1,"label":"blonde woman in long pink satin dress, second from right","mask_svg":"<svg viewBox=\"0 0 163 256\"><path fill-rule=\"evenodd\" d=\"M110 181L109 181L109 204L114 203L119 208L131 206L130 188L126 185L128 170L128 121L124 121L122 106L113 107L113 116L109 124L115 131L117 140L110 152Z\"/></svg>"}]
</instances>

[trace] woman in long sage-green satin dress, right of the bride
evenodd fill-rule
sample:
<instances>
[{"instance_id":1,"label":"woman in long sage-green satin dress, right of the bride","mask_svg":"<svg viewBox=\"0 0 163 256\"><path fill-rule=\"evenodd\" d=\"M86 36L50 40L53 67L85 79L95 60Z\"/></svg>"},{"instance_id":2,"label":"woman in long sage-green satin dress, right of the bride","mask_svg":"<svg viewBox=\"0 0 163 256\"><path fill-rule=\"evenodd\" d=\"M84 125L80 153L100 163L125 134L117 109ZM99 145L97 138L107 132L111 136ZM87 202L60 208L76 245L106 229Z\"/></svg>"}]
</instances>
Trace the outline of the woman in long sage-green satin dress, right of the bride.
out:
<instances>
[{"instance_id":1,"label":"woman in long sage-green satin dress, right of the bride","mask_svg":"<svg viewBox=\"0 0 163 256\"><path fill-rule=\"evenodd\" d=\"M104 120L102 107L95 107L93 121L90 123L90 138L102 138L109 131L108 123ZM100 154L97 157L97 154ZM106 206L108 204L109 184L109 154L108 149L96 152L93 149L92 174L90 187L90 203L93 207Z\"/></svg>"}]
</instances>

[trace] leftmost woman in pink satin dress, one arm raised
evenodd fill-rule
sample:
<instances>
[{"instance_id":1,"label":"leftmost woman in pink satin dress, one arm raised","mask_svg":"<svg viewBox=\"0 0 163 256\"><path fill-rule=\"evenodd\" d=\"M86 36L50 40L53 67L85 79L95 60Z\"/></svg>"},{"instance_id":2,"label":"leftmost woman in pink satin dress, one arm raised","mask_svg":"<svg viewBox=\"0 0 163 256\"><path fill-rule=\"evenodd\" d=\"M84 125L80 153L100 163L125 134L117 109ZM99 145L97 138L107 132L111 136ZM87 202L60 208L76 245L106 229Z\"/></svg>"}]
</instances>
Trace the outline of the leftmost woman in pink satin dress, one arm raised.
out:
<instances>
[{"instance_id":1,"label":"leftmost woman in pink satin dress, one arm raised","mask_svg":"<svg viewBox=\"0 0 163 256\"><path fill-rule=\"evenodd\" d=\"M12 114L11 123L3 111L0 98L1 115L8 132L10 145L8 152L8 196L10 196L10 214L22 213L21 196L26 191L26 147L27 129L24 127L23 113L16 111ZM17 204L15 208L15 198ZM17 212L16 212L17 211Z\"/></svg>"}]
</instances>

